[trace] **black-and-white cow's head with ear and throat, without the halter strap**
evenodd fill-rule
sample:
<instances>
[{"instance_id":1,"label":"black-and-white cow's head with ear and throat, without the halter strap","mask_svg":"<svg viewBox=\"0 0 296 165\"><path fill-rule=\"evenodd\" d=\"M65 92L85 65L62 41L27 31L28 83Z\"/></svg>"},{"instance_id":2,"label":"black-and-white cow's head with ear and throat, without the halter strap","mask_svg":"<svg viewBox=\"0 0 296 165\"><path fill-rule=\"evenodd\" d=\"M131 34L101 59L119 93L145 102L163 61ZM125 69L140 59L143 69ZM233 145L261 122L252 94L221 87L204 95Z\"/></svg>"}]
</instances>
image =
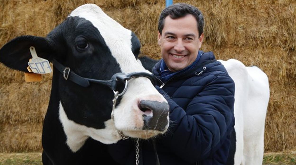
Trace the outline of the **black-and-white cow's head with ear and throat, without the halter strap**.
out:
<instances>
[{"instance_id":1,"label":"black-and-white cow's head with ear and throat, without the halter strap","mask_svg":"<svg viewBox=\"0 0 296 165\"><path fill-rule=\"evenodd\" d=\"M86 78L109 80L118 72L148 72L136 60L140 49L136 35L94 4L75 9L45 38L13 39L1 48L0 62L28 72L30 46L36 48L39 57L55 59ZM145 77L128 81L127 91L117 100L114 121L110 117L114 93L107 86L79 86L65 80L54 68L52 97L59 97L59 120L68 145L75 136L116 143L120 140L118 130L126 136L146 139L168 128L167 101ZM75 147L72 149L75 151Z\"/></svg>"}]
</instances>

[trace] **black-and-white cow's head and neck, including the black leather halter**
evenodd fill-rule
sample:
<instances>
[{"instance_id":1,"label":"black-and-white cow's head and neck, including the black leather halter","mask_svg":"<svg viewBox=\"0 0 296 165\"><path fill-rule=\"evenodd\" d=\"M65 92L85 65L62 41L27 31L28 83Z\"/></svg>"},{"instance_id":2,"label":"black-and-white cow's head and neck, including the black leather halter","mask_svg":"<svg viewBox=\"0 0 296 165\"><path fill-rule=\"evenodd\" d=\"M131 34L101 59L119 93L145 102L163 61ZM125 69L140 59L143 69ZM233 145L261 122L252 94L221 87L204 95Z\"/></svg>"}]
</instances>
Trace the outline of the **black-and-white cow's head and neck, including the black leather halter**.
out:
<instances>
[{"instance_id":1,"label":"black-and-white cow's head and neck, including the black leather halter","mask_svg":"<svg viewBox=\"0 0 296 165\"><path fill-rule=\"evenodd\" d=\"M20 36L0 49L0 62L19 71L28 72L35 53L53 63L43 164L99 164L106 144L165 133L168 102L137 62L139 50L136 35L95 4L73 10L46 37Z\"/></svg>"}]
</instances>

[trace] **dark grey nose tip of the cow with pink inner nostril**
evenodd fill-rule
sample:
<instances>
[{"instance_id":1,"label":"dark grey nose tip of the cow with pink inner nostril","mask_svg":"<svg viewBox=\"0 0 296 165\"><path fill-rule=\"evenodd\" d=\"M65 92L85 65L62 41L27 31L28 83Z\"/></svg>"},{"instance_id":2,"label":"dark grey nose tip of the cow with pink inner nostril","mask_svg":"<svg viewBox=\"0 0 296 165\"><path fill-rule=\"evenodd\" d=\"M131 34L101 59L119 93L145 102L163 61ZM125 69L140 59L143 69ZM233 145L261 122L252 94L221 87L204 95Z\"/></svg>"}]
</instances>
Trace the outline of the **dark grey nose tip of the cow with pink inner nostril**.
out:
<instances>
[{"instance_id":1,"label":"dark grey nose tip of the cow with pink inner nostril","mask_svg":"<svg viewBox=\"0 0 296 165\"><path fill-rule=\"evenodd\" d=\"M169 105L166 102L141 100L138 104L143 112L143 130L164 131L168 125Z\"/></svg>"}]
</instances>

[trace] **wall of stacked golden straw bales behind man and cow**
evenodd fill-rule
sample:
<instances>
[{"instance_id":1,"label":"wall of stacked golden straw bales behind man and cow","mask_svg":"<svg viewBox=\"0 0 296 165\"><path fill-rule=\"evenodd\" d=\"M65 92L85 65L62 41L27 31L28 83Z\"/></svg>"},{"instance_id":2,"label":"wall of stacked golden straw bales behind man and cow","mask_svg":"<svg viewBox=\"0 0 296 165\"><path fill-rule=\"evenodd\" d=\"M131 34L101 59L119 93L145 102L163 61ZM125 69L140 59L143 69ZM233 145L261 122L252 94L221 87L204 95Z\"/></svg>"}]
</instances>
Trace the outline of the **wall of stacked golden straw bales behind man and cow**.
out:
<instances>
[{"instance_id":1,"label":"wall of stacked golden straw bales behind man and cow","mask_svg":"<svg viewBox=\"0 0 296 165\"><path fill-rule=\"evenodd\" d=\"M296 150L296 1L211 0L187 2L205 16L204 51L260 67L269 77L265 151ZM157 19L164 0L0 0L0 47L20 35L46 36L76 7L95 3L139 37L144 55L160 58ZM0 152L41 151L42 122L51 74L26 83L0 64Z\"/></svg>"}]
</instances>

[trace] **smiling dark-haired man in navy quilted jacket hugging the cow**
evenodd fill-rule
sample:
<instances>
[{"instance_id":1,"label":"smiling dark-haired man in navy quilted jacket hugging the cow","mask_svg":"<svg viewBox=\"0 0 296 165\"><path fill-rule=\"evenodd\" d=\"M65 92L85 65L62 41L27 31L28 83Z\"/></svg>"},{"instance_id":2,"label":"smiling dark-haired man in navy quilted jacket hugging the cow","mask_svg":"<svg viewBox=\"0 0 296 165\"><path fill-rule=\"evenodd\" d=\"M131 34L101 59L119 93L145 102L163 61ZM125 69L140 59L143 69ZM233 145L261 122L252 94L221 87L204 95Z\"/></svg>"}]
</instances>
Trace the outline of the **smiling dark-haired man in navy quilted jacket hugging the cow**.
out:
<instances>
[{"instance_id":1,"label":"smiling dark-haired man in navy quilted jacket hugging the cow","mask_svg":"<svg viewBox=\"0 0 296 165\"><path fill-rule=\"evenodd\" d=\"M140 163L144 165L155 164L157 159L161 165L226 163L234 127L234 82L212 52L199 51L203 26L202 13L189 4L171 5L160 14L162 59L153 74L159 80L156 88L170 105L171 123L154 144L151 140L142 143ZM110 147L121 164L135 164L129 142Z\"/></svg>"}]
</instances>

